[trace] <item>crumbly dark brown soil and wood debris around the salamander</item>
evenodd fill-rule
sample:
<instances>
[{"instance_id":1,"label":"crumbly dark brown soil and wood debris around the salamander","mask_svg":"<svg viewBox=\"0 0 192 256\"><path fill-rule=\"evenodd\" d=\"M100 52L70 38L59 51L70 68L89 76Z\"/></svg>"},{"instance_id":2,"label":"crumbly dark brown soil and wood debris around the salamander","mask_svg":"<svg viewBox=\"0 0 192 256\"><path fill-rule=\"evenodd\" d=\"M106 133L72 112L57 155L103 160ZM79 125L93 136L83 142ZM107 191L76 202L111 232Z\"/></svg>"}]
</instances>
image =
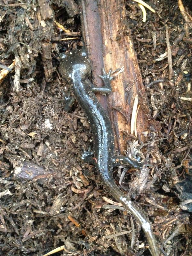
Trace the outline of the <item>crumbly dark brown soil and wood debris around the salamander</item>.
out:
<instances>
[{"instance_id":1,"label":"crumbly dark brown soil and wood debris around the salamander","mask_svg":"<svg viewBox=\"0 0 192 256\"><path fill-rule=\"evenodd\" d=\"M126 16L151 119L161 132L151 127L151 143L143 147L156 183L148 177L148 189L135 199L153 223L162 255L192 255L192 101L180 98L192 97L192 29L177 1L147 2L156 14L147 11L146 23L132 1ZM0 6L0 64L15 59L20 69L19 92L13 90L15 71L0 85L0 255L40 256L62 245L54 255L150 255L137 221L106 202L103 196L112 196L95 168L81 160L92 144L83 111L78 103L70 113L63 110L70 88L58 73L59 53L83 45L78 5L51 1L44 14L42 1L3 0ZM156 60L167 51L165 24L171 79L167 57ZM152 83L158 79L163 82ZM114 178L119 181L116 170Z\"/></svg>"}]
</instances>

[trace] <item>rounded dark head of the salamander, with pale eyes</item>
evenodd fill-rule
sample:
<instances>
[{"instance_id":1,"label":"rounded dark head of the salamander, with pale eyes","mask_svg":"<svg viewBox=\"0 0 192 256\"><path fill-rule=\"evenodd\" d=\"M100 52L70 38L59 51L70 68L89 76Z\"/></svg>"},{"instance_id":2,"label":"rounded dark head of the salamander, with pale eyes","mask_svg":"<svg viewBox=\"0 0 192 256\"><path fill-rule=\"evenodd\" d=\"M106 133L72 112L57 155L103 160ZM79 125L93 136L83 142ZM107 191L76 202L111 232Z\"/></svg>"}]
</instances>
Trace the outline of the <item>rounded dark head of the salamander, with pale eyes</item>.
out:
<instances>
[{"instance_id":1,"label":"rounded dark head of the salamander, with pale eyes","mask_svg":"<svg viewBox=\"0 0 192 256\"><path fill-rule=\"evenodd\" d=\"M73 80L74 75L84 79L91 73L90 60L82 50L71 51L67 54L61 53L60 59L59 71L62 77L69 82Z\"/></svg>"}]
</instances>

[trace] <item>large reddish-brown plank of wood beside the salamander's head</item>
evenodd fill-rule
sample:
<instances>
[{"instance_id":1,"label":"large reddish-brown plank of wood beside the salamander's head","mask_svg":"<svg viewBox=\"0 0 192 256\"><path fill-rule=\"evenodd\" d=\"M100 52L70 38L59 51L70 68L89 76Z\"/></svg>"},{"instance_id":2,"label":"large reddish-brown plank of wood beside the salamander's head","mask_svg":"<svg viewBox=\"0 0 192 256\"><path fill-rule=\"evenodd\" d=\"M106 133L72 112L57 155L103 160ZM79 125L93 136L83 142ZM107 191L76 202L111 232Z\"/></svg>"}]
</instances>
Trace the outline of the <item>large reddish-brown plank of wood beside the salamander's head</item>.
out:
<instances>
[{"instance_id":1,"label":"large reddish-brown plank of wood beside the salamander's head","mask_svg":"<svg viewBox=\"0 0 192 256\"><path fill-rule=\"evenodd\" d=\"M139 95L140 109L137 116L137 135L144 141L143 131L148 129L143 108L145 89L142 83L140 68L135 54L130 30L124 25L125 5L121 0L90 0L82 3L83 37L89 58L92 61L93 83L102 86L98 77L105 67L116 70L124 66L124 72L112 80L112 93L98 98L105 109L108 109L110 119L116 134L116 149L123 152L126 140L123 132L130 133L132 107L134 97ZM130 88L126 92L126 88ZM120 108L125 116L114 110Z\"/></svg>"}]
</instances>

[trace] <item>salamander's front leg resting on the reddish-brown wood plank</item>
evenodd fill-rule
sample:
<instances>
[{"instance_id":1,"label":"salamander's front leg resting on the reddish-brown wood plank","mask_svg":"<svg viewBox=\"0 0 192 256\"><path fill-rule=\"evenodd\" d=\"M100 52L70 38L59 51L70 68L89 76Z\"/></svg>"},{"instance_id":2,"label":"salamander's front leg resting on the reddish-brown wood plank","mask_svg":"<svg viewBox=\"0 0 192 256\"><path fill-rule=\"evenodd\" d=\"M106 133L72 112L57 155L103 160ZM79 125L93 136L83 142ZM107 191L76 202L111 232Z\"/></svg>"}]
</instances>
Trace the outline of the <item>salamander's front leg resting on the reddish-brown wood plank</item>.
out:
<instances>
[{"instance_id":1,"label":"salamander's front leg resting on the reddish-brown wood plank","mask_svg":"<svg viewBox=\"0 0 192 256\"><path fill-rule=\"evenodd\" d=\"M105 72L105 69L103 68L103 75L99 76L104 83L103 87L92 87L93 92L100 92L100 93L110 93L111 92L111 80L113 79L113 76L111 76L111 70L109 70L109 73L107 74Z\"/></svg>"}]
</instances>

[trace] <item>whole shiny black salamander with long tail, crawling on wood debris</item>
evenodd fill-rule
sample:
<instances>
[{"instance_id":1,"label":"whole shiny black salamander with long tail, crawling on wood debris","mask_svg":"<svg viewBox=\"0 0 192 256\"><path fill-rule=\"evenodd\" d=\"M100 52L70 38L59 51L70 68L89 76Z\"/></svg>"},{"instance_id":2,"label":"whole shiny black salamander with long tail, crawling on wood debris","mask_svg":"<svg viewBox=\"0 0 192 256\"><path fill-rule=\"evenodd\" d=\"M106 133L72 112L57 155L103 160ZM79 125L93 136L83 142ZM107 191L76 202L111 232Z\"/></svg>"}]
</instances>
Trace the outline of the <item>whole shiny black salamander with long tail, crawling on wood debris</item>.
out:
<instances>
[{"instance_id":1,"label":"whole shiny black salamander with long tail, crawling on wood debris","mask_svg":"<svg viewBox=\"0 0 192 256\"><path fill-rule=\"evenodd\" d=\"M112 77L104 72L100 76L104 81L104 87L96 88L90 82L88 77L91 74L91 63L85 52L76 50L61 54L61 63L59 67L60 73L63 78L72 84L75 97L84 110L90 122L93 136L94 148L93 153L87 151L83 154L82 158L85 161L91 162L93 159L92 154L97 159L94 163L100 173L104 184L108 187L111 195L124 205L124 208L131 212L133 216L140 222L143 231L148 240L151 255L159 256L159 249L157 246L156 238L153 234L149 220L140 212L137 206L131 201L130 198L124 196L123 192L116 185L112 170L118 164L131 164L139 168L140 163L132 161L127 156L114 157L114 135L109 117L105 110L102 108L100 102L97 100L93 92L110 93L111 85L110 80ZM69 96L65 97L66 107L71 106L73 99Z\"/></svg>"}]
</instances>

